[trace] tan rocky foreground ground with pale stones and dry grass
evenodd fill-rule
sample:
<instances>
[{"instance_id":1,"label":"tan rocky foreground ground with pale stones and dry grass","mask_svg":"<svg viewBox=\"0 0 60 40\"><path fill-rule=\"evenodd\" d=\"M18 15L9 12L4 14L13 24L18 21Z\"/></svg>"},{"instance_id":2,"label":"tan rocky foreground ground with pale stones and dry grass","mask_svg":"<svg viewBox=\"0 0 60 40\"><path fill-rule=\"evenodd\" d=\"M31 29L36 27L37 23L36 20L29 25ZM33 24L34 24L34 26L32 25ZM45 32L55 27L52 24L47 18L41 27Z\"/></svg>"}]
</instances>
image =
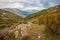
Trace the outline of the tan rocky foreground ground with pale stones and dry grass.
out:
<instances>
[{"instance_id":1,"label":"tan rocky foreground ground with pale stones and dry grass","mask_svg":"<svg viewBox=\"0 0 60 40\"><path fill-rule=\"evenodd\" d=\"M45 32L46 25L34 23L21 23L16 27L0 30L4 40L56 40L50 33ZM48 36L46 36L48 35Z\"/></svg>"}]
</instances>

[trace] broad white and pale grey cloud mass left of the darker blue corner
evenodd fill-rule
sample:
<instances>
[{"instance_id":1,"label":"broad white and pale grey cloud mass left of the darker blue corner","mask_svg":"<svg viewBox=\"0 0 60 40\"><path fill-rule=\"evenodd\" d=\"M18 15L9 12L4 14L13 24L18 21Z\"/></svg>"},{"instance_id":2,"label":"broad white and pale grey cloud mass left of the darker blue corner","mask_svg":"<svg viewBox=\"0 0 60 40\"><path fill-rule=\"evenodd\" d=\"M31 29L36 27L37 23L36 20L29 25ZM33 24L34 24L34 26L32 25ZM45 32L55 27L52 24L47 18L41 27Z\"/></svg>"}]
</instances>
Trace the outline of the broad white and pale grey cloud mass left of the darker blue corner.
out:
<instances>
[{"instance_id":1,"label":"broad white and pale grey cloud mass left of the darker blue corner","mask_svg":"<svg viewBox=\"0 0 60 40\"><path fill-rule=\"evenodd\" d=\"M1 0L0 8L20 8L21 10L41 10L43 4L36 0Z\"/></svg>"}]
</instances>

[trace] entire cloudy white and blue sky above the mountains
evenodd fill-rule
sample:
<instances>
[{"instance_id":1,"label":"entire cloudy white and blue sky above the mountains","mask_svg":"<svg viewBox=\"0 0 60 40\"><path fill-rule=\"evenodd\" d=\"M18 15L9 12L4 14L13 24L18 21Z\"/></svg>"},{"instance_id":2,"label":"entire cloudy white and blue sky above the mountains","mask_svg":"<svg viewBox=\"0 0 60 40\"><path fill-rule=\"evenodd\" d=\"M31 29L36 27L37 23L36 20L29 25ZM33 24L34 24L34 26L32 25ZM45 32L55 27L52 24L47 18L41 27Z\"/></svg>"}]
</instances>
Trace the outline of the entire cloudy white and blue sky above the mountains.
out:
<instances>
[{"instance_id":1,"label":"entire cloudy white and blue sky above the mountains","mask_svg":"<svg viewBox=\"0 0 60 40\"><path fill-rule=\"evenodd\" d=\"M60 0L0 0L0 8L20 10L42 10L59 4Z\"/></svg>"}]
</instances>

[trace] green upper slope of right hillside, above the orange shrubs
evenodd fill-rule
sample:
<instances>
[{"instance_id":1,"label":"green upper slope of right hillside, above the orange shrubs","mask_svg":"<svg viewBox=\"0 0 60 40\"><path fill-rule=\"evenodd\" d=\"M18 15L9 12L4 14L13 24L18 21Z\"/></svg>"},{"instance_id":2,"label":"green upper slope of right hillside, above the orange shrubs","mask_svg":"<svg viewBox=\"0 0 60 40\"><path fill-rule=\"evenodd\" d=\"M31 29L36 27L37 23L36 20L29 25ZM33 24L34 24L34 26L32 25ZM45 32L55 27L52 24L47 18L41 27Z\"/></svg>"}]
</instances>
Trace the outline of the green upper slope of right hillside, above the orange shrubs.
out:
<instances>
[{"instance_id":1,"label":"green upper slope of right hillside, above the orange shrubs","mask_svg":"<svg viewBox=\"0 0 60 40\"><path fill-rule=\"evenodd\" d=\"M27 19L35 18L37 16L43 15L43 14L48 14L48 13L53 13L53 12L60 12L60 5L50 7L48 9L41 10L39 12L33 13L29 16L27 16Z\"/></svg>"}]
</instances>

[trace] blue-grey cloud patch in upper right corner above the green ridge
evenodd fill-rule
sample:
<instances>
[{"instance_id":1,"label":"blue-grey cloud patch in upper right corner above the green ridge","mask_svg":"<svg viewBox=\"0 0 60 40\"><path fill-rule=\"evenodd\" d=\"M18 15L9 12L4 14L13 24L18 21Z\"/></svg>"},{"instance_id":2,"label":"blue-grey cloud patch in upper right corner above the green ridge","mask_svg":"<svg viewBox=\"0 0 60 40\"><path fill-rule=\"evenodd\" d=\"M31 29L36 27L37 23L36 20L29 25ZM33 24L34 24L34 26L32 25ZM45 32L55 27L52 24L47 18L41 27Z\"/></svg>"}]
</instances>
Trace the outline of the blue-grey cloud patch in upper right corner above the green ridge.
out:
<instances>
[{"instance_id":1,"label":"blue-grey cloud patch in upper right corner above the green ridge","mask_svg":"<svg viewBox=\"0 0 60 40\"><path fill-rule=\"evenodd\" d=\"M41 0L40 2L44 5L45 8L60 4L60 0Z\"/></svg>"}]
</instances>

